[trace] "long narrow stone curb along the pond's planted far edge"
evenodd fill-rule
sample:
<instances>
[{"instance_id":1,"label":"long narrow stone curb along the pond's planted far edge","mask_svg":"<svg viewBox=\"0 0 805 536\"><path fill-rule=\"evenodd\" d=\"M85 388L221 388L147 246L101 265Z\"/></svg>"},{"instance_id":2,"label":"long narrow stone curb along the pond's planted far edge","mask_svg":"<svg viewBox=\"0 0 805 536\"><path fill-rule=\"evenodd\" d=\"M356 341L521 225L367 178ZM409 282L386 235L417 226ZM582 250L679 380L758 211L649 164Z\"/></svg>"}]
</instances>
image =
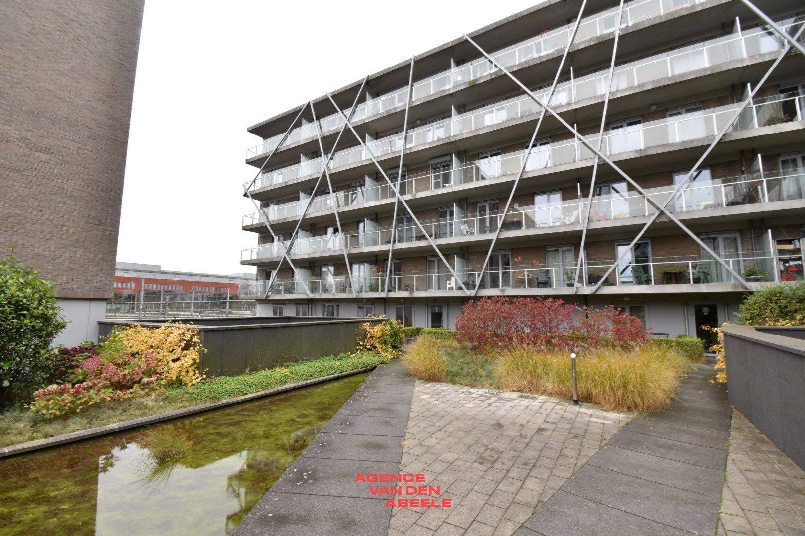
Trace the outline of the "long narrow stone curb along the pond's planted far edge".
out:
<instances>
[{"instance_id":1,"label":"long narrow stone curb along the pond's planted far edge","mask_svg":"<svg viewBox=\"0 0 805 536\"><path fill-rule=\"evenodd\" d=\"M287 385L275 387L273 389L268 389L266 391L258 391L256 393L250 393L249 395L237 396L233 399L225 399L220 400L218 402L201 404L200 406L185 407L184 409L168 411L167 413L160 413L159 415L151 415L150 417L141 417L140 419L126 420L123 421L122 423L107 424L105 426L88 428L86 430L80 430L78 432L61 434L60 436L46 437L41 440L27 441L26 443L18 443L14 445L9 445L8 447L0 447L0 459L6 458L8 456L15 456L17 454L23 454L24 452L34 452L43 448L55 447L56 445L60 444L67 444L67 443L73 443L75 441L88 440L92 437L106 436L108 434L114 434L115 432L130 430L131 428L139 428L142 426L147 426L149 424L161 423L166 420L179 419L180 417L186 417L188 415L194 415L196 413L203 413L204 411L210 411L218 409L220 407L232 406L233 404L237 403L249 402L250 400L259 399L264 396L277 395L285 391L292 391L294 389L298 389L299 387L307 387L309 385L314 385L316 383L324 383L332 379L343 378L344 376L359 374L361 372L373 369L374 366L365 366L361 369L349 370L347 372L340 372L338 374L330 374L329 376L322 376L321 378L308 379L303 382L289 383Z\"/></svg>"}]
</instances>

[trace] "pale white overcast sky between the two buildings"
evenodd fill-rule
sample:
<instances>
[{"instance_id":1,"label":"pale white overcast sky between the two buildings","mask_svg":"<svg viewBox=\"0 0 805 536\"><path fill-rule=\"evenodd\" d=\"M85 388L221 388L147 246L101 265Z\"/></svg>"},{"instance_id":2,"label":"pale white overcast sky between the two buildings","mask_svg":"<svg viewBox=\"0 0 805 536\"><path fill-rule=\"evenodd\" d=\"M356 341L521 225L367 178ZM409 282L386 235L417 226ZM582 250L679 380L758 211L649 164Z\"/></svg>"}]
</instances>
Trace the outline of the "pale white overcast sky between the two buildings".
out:
<instances>
[{"instance_id":1,"label":"pale white overcast sky between the two buildings","mask_svg":"<svg viewBox=\"0 0 805 536\"><path fill-rule=\"evenodd\" d=\"M254 272L248 126L535 3L147 0L118 260Z\"/></svg>"}]
</instances>

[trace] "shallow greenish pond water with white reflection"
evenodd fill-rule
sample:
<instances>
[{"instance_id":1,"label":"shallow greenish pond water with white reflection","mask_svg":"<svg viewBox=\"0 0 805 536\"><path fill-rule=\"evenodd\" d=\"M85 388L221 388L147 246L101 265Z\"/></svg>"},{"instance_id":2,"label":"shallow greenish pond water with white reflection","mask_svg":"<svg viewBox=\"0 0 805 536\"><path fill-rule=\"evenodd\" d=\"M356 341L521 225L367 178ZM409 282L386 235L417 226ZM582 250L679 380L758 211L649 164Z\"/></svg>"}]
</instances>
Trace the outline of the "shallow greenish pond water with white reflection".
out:
<instances>
[{"instance_id":1,"label":"shallow greenish pond water with white reflection","mask_svg":"<svg viewBox=\"0 0 805 536\"><path fill-rule=\"evenodd\" d=\"M0 460L0 534L226 534L367 374Z\"/></svg>"}]
</instances>

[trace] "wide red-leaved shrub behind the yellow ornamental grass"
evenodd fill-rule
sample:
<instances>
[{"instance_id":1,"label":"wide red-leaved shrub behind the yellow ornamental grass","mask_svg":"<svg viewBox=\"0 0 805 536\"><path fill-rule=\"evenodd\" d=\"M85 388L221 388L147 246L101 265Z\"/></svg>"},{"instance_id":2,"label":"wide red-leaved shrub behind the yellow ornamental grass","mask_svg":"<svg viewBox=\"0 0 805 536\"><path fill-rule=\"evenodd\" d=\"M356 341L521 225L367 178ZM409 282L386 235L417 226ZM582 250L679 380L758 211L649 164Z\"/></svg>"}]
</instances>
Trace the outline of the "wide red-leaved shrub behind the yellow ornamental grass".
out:
<instances>
[{"instance_id":1,"label":"wide red-leaved shrub behind the yellow ornamental grass","mask_svg":"<svg viewBox=\"0 0 805 536\"><path fill-rule=\"evenodd\" d=\"M481 352L514 346L626 349L647 342L649 333L638 318L611 306L580 308L543 297L481 298L465 304L456 317L456 342Z\"/></svg>"}]
</instances>

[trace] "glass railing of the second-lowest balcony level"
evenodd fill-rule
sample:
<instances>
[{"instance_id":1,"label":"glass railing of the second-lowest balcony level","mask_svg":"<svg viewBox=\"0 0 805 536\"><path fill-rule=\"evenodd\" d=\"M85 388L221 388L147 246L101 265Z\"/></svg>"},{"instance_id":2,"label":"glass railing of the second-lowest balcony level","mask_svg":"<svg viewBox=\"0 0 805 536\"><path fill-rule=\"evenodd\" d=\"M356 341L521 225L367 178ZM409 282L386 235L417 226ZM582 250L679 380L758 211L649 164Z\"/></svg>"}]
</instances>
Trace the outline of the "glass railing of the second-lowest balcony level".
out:
<instances>
[{"instance_id":1,"label":"glass railing of the second-lowest balcony level","mask_svg":"<svg viewBox=\"0 0 805 536\"><path fill-rule=\"evenodd\" d=\"M650 188L647 193L657 203L664 203L675 190L674 186ZM805 170L799 172L774 172L769 174L746 174L732 178L711 179L693 182L676 194L667 206L668 211L686 213L705 211L719 207L771 203L805 198ZM592 203L592 222L611 221L647 216L654 213L652 205L636 192L618 195L599 195L572 201L515 207L504 217L500 213L432 219L421 221L423 232L413 223L394 227L382 227L371 232L350 232L329 236L297 239L291 246L291 255L319 252L341 252L357 248L386 248L386 244L415 243L431 239L451 239L489 235L501 231L520 231L581 223ZM269 243L242 252L242 260L270 260L283 256L283 247Z\"/></svg>"}]
</instances>

